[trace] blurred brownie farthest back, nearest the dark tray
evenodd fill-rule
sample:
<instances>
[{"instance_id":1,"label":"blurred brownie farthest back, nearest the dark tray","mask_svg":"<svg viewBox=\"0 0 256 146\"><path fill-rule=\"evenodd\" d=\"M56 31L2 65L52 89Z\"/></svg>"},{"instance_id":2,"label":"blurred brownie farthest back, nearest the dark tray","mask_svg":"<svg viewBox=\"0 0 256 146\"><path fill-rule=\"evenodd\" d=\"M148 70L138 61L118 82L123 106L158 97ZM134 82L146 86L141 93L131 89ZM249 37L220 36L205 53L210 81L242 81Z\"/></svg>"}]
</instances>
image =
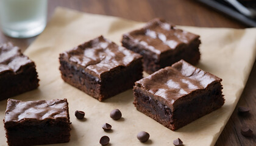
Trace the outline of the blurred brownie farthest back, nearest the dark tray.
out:
<instances>
[{"instance_id":1,"label":"blurred brownie farthest back, nearest the dark tray","mask_svg":"<svg viewBox=\"0 0 256 146\"><path fill-rule=\"evenodd\" d=\"M197 64L199 35L177 29L163 19L153 19L139 30L123 35L123 46L143 55L144 71L152 74L183 59Z\"/></svg>"}]
</instances>

